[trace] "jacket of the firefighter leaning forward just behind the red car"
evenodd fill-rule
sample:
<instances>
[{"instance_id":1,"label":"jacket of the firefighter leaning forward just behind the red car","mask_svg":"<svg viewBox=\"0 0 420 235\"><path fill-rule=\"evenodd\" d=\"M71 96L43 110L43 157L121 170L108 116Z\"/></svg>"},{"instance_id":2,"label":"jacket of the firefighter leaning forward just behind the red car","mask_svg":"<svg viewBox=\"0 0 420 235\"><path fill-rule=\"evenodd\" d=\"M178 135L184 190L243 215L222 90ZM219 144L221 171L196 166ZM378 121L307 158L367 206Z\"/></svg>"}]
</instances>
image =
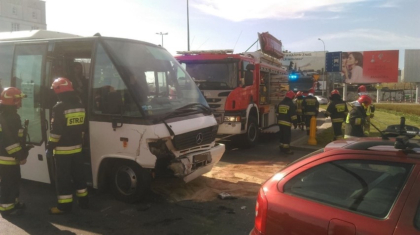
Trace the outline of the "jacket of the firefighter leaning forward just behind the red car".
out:
<instances>
[{"instance_id":1,"label":"jacket of the firefighter leaning forward just behind the red car","mask_svg":"<svg viewBox=\"0 0 420 235\"><path fill-rule=\"evenodd\" d=\"M345 135L363 137L363 124L366 122L366 110L362 106L354 106L346 119Z\"/></svg>"}]
</instances>

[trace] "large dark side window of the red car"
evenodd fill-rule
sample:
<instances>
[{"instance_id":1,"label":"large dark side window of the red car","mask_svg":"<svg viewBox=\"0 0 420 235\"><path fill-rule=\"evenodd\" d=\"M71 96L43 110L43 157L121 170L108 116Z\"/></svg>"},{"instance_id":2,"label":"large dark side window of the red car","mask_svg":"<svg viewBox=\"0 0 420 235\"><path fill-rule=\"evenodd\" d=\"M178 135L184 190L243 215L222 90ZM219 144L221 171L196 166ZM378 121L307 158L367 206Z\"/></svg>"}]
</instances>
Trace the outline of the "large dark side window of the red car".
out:
<instances>
[{"instance_id":1,"label":"large dark side window of the red car","mask_svg":"<svg viewBox=\"0 0 420 235\"><path fill-rule=\"evenodd\" d=\"M283 192L385 218L412 168L412 164L397 162L331 161L296 175L284 185Z\"/></svg>"}]
</instances>

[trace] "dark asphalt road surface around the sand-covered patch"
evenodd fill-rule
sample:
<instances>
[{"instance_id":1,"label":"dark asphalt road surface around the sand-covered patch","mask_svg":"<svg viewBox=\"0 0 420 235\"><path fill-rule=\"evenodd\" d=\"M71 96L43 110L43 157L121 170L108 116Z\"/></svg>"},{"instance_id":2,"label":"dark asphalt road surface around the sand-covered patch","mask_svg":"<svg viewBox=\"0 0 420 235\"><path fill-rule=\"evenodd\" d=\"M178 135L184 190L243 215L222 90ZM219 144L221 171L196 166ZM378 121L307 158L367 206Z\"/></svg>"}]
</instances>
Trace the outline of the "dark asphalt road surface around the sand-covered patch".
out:
<instances>
[{"instance_id":1,"label":"dark asphalt road surface around the sand-covered patch","mask_svg":"<svg viewBox=\"0 0 420 235\"><path fill-rule=\"evenodd\" d=\"M293 130L292 139L304 134ZM295 150L292 156L281 156L276 134L263 134L260 143L252 149L241 149L229 139L221 142L227 148L221 159L224 164L252 161L258 168L259 164L286 164L309 153ZM0 218L0 234L247 235L254 223L256 195L257 192L255 197L235 200L174 202L168 195L154 193L144 202L127 204L116 201L108 192L89 189L89 209L81 210L74 203L70 214L49 215L48 208L56 202L55 189L48 184L23 180L20 199L26 202L27 209L23 215Z\"/></svg>"}]
</instances>

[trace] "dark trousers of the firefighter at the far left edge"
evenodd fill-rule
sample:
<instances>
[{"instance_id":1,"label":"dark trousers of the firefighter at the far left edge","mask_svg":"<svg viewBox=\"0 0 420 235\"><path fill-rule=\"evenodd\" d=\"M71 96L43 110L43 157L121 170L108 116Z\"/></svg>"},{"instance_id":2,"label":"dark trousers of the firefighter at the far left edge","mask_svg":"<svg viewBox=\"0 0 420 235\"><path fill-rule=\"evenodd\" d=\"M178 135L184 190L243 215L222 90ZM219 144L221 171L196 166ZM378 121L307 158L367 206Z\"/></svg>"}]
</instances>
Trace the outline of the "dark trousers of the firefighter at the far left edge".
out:
<instances>
[{"instance_id":1,"label":"dark trousers of the firefighter at the far left edge","mask_svg":"<svg viewBox=\"0 0 420 235\"><path fill-rule=\"evenodd\" d=\"M14 208L19 198L20 165L0 164L0 211Z\"/></svg>"}]
</instances>

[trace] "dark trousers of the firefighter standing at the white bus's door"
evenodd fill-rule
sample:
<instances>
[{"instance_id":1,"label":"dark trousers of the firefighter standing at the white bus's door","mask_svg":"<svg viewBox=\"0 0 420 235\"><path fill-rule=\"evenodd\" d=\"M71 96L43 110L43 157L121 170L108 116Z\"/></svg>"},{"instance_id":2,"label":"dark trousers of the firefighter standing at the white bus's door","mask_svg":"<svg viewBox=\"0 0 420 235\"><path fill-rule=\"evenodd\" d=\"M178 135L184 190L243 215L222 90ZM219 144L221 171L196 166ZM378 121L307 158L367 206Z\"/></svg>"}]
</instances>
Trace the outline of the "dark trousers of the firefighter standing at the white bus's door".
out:
<instances>
[{"instance_id":1,"label":"dark trousers of the firefighter standing at the white bus's door","mask_svg":"<svg viewBox=\"0 0 420 235\"><path fill-rule=\"evenodd\" d=\"M79 206L87 207L87 186L82 153L55 154L54 158L57 208L62 211L71 211L74 190L76 190Z\"/></svg>"}]
</instances>

